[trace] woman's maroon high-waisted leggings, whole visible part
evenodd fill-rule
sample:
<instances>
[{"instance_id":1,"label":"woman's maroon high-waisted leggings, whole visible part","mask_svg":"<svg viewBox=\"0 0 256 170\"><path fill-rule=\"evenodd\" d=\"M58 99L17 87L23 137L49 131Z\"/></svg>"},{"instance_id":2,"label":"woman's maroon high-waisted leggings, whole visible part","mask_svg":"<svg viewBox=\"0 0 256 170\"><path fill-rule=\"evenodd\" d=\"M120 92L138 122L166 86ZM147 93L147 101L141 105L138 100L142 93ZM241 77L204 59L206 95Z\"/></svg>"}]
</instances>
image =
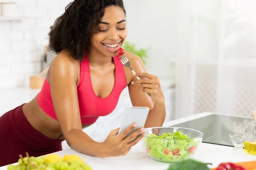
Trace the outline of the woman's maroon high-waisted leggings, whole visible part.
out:
<instances>
[{"instance_id":1,"label":"woman's maroon high-waisted leggings, whole visible part","mask_svg":"<svg viewBox=\"0 0 256 170\"><path fill-rule=\"evenodd\" d=\"M23 105L0 117L0 167L17 162L26 152L36 157L62 150L61 140L49 139L30 125Z\"/></svg>"}]
</instances>

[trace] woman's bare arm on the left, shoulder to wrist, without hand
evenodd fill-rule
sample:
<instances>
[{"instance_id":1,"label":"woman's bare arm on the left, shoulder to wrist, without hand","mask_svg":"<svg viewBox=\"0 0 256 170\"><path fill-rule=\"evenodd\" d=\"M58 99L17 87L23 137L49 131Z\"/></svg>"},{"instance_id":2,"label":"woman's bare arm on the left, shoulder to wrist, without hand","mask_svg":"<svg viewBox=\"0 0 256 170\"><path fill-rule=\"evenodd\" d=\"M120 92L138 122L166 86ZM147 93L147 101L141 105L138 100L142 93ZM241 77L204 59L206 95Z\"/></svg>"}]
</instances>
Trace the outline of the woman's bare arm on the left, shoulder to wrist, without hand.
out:
<instances>
[{"instance_id":1,"label":"woman's bare arm on the left, shoulder to wrist, without hand","mask_svg":"<svg viewBox=\"0 0 256 170\"><path fill-rule=\"evenodd\" d=\"M50 69L50 87L55 113L67 144L78 151L99 156L99 143L82 131L77 96L77 64L67 52L53 59Z\"/></svg>"}]
</instances>

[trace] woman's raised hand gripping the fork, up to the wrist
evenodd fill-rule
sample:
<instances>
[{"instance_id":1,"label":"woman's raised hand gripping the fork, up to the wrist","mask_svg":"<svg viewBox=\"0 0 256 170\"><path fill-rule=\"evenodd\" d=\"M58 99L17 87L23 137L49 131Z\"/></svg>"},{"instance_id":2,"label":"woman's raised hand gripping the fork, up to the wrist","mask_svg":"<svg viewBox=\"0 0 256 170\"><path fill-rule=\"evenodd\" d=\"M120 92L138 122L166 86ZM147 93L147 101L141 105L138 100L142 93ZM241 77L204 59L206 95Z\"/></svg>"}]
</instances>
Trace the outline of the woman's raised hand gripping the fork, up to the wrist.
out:
<instances>
[{"instance_id":1,"label":"woman's raised hand gripping the fork, up to the wrist","mask_svg":"<svg viewBox=\"0 0 256 170\"><path fill-rule=\"evenodd\" d=\"M131 82L131 84L139 85L139 91L142 90L144 93L150 93L154 103L164 104L165 99L157 76L148 73L136 73L134 75L140 77L140 79Z\"/></svg>"}]
</instances>

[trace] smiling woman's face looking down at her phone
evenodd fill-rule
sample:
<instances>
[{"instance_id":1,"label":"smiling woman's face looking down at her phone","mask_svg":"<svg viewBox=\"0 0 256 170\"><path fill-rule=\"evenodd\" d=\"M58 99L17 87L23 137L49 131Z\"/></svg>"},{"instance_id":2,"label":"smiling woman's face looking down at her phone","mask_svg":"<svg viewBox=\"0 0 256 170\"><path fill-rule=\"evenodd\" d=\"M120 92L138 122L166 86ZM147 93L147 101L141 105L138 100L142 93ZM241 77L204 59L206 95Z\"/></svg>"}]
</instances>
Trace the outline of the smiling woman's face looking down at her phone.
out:
<instances>
[{"instance_id":1,"label":"smiling woman's face looking down at her phone","mask_svg":"<svg viewBox=\"0 0 256 170\"><path fill-rule=\"evenodd\" d=\"M127 37L125 13L119 6L105 8L105 14L97 25L97 33L92 34L91 50L113 57Z\"/></svg>"}]
</instances>

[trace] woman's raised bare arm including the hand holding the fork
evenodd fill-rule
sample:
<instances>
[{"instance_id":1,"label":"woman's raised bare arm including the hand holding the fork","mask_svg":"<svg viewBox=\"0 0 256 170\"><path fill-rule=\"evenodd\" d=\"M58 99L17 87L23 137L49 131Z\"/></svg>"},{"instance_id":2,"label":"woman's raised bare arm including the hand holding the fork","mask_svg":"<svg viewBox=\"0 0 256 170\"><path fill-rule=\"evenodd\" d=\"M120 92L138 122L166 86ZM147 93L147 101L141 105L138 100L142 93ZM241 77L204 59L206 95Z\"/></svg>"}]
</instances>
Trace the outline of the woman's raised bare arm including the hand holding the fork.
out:
<instances>
[{"instance_id":1,"label":"woman's raised bare arm including the hand holding the fork","mask_svg":"<svg viewBox=\"0 0 256 170\"><path fill-rule=\"evenodd\" d=\"M145 128L162 126L166 116L166 108L158 77L146 74L147 71L140 57L130 52L125 52L125 55L131 61L133 70L136 73L142 73L137 75L142 79L137 80L136 76L132 75L131 71L127 71L131 73L129 76L132 77L128 85L132 105L150 108L145 122ZM134 82L134 84L132 84L132 82ZM149 97L146 92L150 93L152 97Z\"/></svg>"}]
</instances>

